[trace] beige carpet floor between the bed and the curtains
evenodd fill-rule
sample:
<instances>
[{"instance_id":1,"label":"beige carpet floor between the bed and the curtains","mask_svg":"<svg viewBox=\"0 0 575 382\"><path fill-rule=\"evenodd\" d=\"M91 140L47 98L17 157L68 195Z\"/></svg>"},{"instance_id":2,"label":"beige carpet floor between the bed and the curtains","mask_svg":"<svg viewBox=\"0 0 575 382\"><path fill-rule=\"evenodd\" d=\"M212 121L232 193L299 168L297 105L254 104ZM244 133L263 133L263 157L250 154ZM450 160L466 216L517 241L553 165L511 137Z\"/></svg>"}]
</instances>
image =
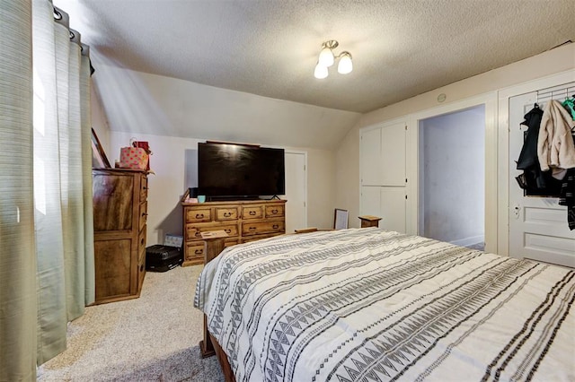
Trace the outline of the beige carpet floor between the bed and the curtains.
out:
<instances>
[{"instance_id":1,"label":"beige carpet floor between the bed and the curtains","mask_svg":"<svg viewBox=\"0 0 575 382\"><path fill-rule=\"evenodd\" d=\"M39 381L223 381L216 357L202 360L202 313L193 308L201 266L146 273L139 299L86 308L68 325L67 349Z\"/></svg>"}]
</instances>

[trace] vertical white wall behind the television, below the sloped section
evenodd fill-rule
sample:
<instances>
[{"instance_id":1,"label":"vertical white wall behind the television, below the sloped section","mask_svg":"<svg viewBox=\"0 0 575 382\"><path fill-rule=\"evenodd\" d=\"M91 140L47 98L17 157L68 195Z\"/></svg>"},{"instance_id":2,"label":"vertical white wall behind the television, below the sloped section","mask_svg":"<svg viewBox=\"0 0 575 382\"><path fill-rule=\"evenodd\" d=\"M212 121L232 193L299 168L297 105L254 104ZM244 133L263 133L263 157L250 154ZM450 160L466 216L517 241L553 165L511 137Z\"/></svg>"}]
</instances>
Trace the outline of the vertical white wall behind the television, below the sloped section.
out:
<instances>
[{"instance_id":1,"label":"vertical white wall behind the television, below the sloped section","mask_svg":"<svg viewBox=\"0 0 575 382\"><path fill-rule=\"evenodd\" d=\"M162 243L166 233L181 235L180 202L186 190L185 153L186 150L197 150L198 143L206 140L115 131L111 131L110 136L111 150L107 154L111 163L119 160L120 147L127 146L131 138L149 142L153 152L150 167L155 174L150 174L148 177L146 246ZM329 228L332 226L335 198L333 153L317 149L297 150L307 152L308 225Z\"/></svg>"}]
</instances>

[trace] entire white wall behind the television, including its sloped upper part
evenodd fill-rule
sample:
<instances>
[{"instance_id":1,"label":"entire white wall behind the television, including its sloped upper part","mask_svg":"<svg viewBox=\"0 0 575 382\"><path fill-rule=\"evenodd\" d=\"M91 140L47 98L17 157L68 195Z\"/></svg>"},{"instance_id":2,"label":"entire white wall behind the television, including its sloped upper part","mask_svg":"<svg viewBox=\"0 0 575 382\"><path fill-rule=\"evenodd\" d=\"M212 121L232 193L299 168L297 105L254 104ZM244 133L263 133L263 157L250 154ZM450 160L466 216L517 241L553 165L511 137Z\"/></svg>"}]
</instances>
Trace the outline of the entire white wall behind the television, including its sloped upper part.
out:
<instances>
[{"instance_id":1,"label":"entire white wall behind the television, including its sloped upper part","mask_svg":"<svg viewBox=\"0 0 575 382\"><path fill-rule=\"evenodd\" d=\"M334 203L333 149L360 114L107 65L96 67L93 80L93 126L112 166L132 137L149 141L154 152L148 245L181 233L185 152L206 140L305 151L308 226L331 228L334 208L345 208Z\"/></svg>"}]
</instances>

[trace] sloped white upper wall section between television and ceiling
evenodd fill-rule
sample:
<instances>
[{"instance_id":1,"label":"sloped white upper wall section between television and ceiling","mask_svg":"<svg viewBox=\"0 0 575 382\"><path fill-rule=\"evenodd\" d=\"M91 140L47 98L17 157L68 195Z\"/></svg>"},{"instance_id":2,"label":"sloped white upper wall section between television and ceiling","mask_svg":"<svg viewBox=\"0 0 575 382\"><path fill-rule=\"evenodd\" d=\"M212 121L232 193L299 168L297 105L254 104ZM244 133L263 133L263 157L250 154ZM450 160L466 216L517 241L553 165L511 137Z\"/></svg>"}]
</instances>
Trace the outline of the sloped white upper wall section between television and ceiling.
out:
<instances>
[{"instance_id":1,"label":"sloped white upper wall section between television and ceiling","mask_svg":"<svg viewBox=\"0 0 575 382\"><path fill-rule=\"evenodd\" d=\"M333 150L359 113L99 65L112 131Z\"/></svg>"}]
</instances>

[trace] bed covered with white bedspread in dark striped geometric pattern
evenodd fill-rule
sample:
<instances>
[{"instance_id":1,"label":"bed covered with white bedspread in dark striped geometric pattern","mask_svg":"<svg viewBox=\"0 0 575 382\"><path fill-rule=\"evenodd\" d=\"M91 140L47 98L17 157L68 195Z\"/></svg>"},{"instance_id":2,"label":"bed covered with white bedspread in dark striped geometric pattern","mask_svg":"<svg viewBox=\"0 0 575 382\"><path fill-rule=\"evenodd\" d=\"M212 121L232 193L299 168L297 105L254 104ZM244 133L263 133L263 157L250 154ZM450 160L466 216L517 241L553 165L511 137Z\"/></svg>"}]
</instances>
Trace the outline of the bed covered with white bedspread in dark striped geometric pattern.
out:
<instances>
[{"instance_id":1,"label":"bed covered with white bedspread in dark striped geometric pattern","mask_svg":"<svg viewBox=\"0 0 575 382\"><path fill-rule=\"evenodd\" d=\"M226 248L194 306L237 382L573 381L574 276L377 228L317 231Z\"/></svg>"}]
</instances>

